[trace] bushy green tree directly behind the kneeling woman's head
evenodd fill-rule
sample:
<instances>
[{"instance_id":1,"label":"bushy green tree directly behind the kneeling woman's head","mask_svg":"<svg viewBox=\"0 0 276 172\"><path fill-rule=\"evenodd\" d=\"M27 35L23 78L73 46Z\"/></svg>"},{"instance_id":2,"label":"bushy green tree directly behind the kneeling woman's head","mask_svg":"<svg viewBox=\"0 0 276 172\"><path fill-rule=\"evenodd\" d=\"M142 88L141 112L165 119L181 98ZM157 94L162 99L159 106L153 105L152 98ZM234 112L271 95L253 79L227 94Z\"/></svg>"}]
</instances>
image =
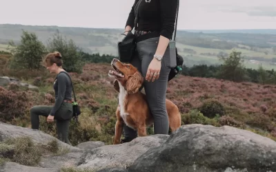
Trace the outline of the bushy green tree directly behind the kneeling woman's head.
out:
<instances>
[{"instance_id":1,"label":"bushy green tree directly behind the kneeling woman's head","mask_svg":"<svg viewBox=\"0 0 276 172\"><path fill-rule=\"evenodd\" d=\"M59 32L54 34L52 39L48 40L48 50L50 52L58 51L61 53L63 67L68 72L82 72L82 67L85 64L81 49L75 44L72 39L69 41Z\"/></svg>"}]
</instances>

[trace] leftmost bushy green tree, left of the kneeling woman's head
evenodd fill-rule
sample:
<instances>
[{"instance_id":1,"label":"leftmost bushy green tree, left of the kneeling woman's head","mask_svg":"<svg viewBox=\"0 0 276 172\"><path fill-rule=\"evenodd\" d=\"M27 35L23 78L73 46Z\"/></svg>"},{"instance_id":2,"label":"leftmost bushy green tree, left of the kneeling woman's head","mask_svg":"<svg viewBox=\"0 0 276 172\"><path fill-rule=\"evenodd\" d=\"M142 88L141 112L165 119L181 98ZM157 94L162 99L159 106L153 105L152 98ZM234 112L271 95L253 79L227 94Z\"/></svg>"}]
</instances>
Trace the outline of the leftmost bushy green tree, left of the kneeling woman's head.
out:
<instances>
[{"instance_id":1,"label":"leftmost bushy green tree, left of the kneeling woman's head","mask_svg":"<svg viewBox=\"0 0 276 172\"><path fill-rule=\"evenodd\" d=\"M12 53L10 68L14 69L40 69L46 47L38 40L37 35L27 31L22 32L21 43L9 43L8 50Z\"/></svg>"}]
</instances>

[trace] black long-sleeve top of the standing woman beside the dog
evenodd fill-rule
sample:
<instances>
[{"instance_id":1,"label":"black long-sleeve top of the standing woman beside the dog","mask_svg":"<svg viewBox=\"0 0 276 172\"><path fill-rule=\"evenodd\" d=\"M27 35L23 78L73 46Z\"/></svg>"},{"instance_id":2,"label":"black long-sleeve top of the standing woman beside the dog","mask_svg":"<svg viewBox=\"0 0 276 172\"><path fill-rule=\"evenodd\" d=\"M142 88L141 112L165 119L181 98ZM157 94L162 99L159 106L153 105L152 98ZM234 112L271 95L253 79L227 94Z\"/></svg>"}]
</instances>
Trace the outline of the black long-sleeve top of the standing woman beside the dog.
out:
<instances>
[{"instance_id":1,"label":"black long-sleeve top of the standing woman beside the dog","mask_svg":"<svg viewBox=\"0 0 276 172\"><path fill-rule=\"evenodd\" d=\"M139 0L135 0L126 26L130 25L133 29L135 26L135 5ZM168 39L172 38L175 30L175 18L177 12L177 0L142 0L138 12L138 27L136 30L157 31L160 35Z\"/></svg>"}]
</instances>

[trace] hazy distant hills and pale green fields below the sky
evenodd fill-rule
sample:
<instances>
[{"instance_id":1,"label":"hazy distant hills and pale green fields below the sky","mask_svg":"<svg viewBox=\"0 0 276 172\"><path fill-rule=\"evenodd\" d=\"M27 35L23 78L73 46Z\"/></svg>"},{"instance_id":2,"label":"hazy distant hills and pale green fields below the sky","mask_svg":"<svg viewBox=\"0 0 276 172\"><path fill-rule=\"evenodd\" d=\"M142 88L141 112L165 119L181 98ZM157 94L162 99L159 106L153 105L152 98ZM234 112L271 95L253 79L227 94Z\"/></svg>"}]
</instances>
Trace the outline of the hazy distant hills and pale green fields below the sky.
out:
<instances>
[{"instance_id":1,"label":"hazy distant hills and pale green fields below the sky","mask_svg":"<svg viewBox=\"0 0 276 172\"><path fill-rule=\"evenodd\" d=\"M19 43L22 30L34 32L47 44L59 32L75 41L84 52L117 56L117 43L123 29L69 28L41 25L0 25L0 50L9 41ZM247 67L275 68L276 30L177 30L177 49L186 65L220 63L217 56L228 55L234 49L246 57ZM251 60L251 61L250 61ZM252 61L254 60L254 61Z\"/></svg>"}]
</instances>

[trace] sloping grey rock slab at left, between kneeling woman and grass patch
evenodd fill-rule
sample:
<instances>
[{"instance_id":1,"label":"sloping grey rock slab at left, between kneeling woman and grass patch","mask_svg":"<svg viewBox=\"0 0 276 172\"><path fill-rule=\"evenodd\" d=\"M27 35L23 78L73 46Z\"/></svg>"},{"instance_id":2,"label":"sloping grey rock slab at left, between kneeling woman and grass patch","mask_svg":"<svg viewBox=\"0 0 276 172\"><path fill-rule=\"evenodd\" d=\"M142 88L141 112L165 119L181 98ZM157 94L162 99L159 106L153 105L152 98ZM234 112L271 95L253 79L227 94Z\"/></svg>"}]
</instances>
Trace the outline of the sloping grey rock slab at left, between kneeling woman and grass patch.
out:
<instances>
[{"instance_id":1,"label":"sloping grey rock slab at left, between kneeling woman and grass patch","mask_svg":"<svg viewBox=\"0 0 276 172\"><path fill-rule=\"evenodd\" d=\"M29 136L36 143L46 144L52 140L57 140L59 144L59 149L68 149L68 151L81 151L77 147L72 147L65 142L61 142L55 137L52 137L43 131L37 129L29 129L25 127L18 127L14 125L8 125L6 123L0 122L0 141L7 140L9 138L17 138L22 136Z\"/></svg>"}]
</instances>

